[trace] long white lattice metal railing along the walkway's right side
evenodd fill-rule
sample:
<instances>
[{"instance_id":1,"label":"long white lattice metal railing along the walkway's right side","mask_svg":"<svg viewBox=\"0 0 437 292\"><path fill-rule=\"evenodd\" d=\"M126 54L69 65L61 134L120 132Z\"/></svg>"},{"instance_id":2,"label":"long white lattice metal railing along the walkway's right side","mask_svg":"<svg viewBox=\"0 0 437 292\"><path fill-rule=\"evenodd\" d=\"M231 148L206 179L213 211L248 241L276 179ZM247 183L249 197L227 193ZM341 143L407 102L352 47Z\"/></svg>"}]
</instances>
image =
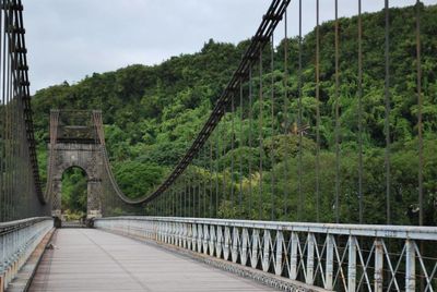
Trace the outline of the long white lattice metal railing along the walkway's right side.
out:
<instances>
[{"instance_id":1,"label":"long white lattice metal railing along the walkway's right side","mask_svg":"<svg viewBox=\"0 0 437 292\"><path fill-rule=\"evenodd\" d=\"M97 219L154 240L335 291L436 291L437 228L169 217Z\"/></svg>"}]
</instances>

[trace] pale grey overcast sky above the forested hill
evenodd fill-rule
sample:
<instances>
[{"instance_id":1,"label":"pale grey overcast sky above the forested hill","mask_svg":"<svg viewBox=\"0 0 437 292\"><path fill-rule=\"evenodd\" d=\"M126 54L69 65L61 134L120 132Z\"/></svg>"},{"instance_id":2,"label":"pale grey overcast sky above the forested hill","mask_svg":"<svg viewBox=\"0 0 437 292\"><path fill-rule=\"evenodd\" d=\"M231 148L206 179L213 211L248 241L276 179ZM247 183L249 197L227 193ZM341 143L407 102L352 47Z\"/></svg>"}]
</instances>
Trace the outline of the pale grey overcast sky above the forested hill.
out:
<instances>
[{"instance_id":1,"label":"pale grey overcast sky above the forested hill","mask_svg":"<svg viewBox=\"0 0 437 292\"><path fill-rule=\"evenodd\" d=\"M316 0L303 0L304 32L315 26ZM390 5L415 0L392 0ZM435 4L437 0L426 0ZM297 3L288 9L297 34ZM334 16L334 0L320 0L322 20ZM156 64L199 51L210 38L238 42L251 37L269 0L23 0L31 89L129 64ZM357 0L339 0L340 16L357 13ZM383 0L363 0L378 11ZM277 38L283 36L283 29Z\"/></svg>"}]
</instances>

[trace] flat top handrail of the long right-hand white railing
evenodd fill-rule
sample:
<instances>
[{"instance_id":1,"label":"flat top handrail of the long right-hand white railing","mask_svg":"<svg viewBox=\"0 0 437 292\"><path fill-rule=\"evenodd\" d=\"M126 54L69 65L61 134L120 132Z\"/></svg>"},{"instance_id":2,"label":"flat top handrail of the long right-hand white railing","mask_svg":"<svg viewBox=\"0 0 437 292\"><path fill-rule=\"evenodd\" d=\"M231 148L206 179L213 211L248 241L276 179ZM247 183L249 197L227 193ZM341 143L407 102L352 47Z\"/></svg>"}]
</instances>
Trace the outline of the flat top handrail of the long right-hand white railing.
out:
<instances>
[{"instance_id":1,"label":"flat top handrail of the long right-hand white railing","mask_svg":"<svg viewBox=\"0 0 437 292\"><path fill-rule=\"evenodd\" d=\"M149 216L120 216L107 217L96 220L149 220L162 222L184 222L196 224L216 224L238 228L270 229L281 231L300 231L335 235L356 235L411 240L437 240L437 227L417 226L385 226L385 224L336 224L314 222L282 222L282 221L256 221L214 218L184 218L184 217L149 217Z\"/></svg>"}]
</instances>

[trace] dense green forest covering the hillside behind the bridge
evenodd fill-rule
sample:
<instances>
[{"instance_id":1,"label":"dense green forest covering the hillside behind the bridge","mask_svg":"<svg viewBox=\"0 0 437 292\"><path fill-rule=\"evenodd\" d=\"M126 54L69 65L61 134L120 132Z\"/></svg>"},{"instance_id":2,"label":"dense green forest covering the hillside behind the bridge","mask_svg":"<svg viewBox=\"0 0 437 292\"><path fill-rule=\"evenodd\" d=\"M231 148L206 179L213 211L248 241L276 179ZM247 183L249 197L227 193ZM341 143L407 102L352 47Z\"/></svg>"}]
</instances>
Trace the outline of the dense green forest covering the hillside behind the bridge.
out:
<instances>
[{"instance_id":1,"label":"dense green forest covering the hillside behind the bridge","mask_svg":"<svg viewBox=\"0 0 437 292\"><path fill-rule=\"evenodd\" d=\"M422 89L424 122L424 194L427 224L437 223L437 7L421 7L422 31ZM390 146L391 158L391 205L395 223L416 223L411 214L417 207L417 95L416 95L416 47L415 8L390 10ZM385 184L385 16L383 13L366 13L363 16L363 194L365 221L386 221ZM356 41L357 17L340 20L340 124L341 124L341 204L342 221L356 222L358 180L358 61ZM209 40L192 54L173 57L157 65L130 65L115 72L94 73L83 81L70 85L67 82L38 90L32 99L36 137L39 142L38 158L46 175L48 123L50 109L102 109L105 137L111 166L121 190L129 196L139 197L152 191L163 181L175 163L181 158L209 117L216 99L221 96L229 76L238 65L249 40L237 45ZM286 44L286 46L285 46ZM260 155L257 134L252 147L248 146L247 114L236 109L234 122L237 134L232 150L231 114L226 114L216 131L223 155L214 156L220 178L235 177L244 200L247 190L257 190L260 175L257 173L260 157L263 165L263 193L253 196L252 208L243 212L228 200L223 199L217 216L238 216L264 219L273 217L288 220L316 220L316 33L310 32L303 39L302 70L302 124L307 126L299 145L298 135L288 131L297 123L298 108L298 44L297 37L282 40L274 48L273 71L265 58L263 80L268 96L273 89L275 101L273 112L270 98L252 106L253 132L265 133ZM284 48L288 48L287 81L284 83ZM265 56L270 56L267 48ZM333 221L333 190L335 171L334 138L334 23L320 26L320 209L319 220ZM286 88L285 85L286 84ZM284 100L284 92L288 100ZM255 93L256 95L257 93ZM288 105L288 107L285 107ZM260 114L262 107L263 114ZM247 108L247 105L246 105ZM285 110L284 110L285 109ZM243 117L243 120L241 120ZM284 125L288 120L291 126ZM290 132L290 133L288 133ZM286 135L284 135L286 133ZM285 145L285 146L284 146ZM298 166L298 150L300 170ZM252 173L244 168L243 175L229 169L231 157L251 161ZM239 160L236 160L238 163ZM274 161L274 163L271 163ZM205 165L203 162L200 166ZM287 170L284 169L287 166ZM305 175L298 183L298 171ZM231 173L233 172L233 173ZM198 171L196 175L209 175ZM274 180L272 180L272 175ZM233 177L233 178L234 178ZM250 178L249 178L250 177ZM250 180L249 180L250 179ZM85 207L85 178L80 171L66 174L63 187L64 209L75 212ZM258 180L258 181L257 181ZM227 182L229 183L229 179ZM272 182L274 181L274 184ZM240 184L241 182L241 184ZM249 185L248 183L253 184ZM297 185L305 193L299 202ZM82 190L82 191L81 191ZM237 191L236 191L237 192ZM256 191L253 191L256 192ZM283 194L288 193L288 198ZM270 197L281 208L274 209ZM255 206L261 205L258 210ZM303 211L298 214L298 203Z\"/></svg>"}]
</instances>

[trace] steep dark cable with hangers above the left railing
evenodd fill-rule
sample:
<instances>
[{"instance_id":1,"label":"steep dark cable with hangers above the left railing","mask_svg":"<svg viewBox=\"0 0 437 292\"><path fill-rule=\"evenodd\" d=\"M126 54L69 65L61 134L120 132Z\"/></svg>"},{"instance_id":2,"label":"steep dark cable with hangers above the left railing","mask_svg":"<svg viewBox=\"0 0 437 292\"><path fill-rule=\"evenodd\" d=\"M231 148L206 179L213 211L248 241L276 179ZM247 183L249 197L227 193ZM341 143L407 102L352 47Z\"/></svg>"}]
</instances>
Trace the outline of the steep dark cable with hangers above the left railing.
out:
<instances>
[{"instance_id":1,"label":"steep dark cable with hangers above the left railing","mask_svg":"<svg viewBox=\"0 0 437 292\"><path fill-rule=\"evenodd\" d=\"M1 1L0 26L0 220L8 221L46 214L48 198L36 157L21 0Z\"/></svg>"}]
</instances>

